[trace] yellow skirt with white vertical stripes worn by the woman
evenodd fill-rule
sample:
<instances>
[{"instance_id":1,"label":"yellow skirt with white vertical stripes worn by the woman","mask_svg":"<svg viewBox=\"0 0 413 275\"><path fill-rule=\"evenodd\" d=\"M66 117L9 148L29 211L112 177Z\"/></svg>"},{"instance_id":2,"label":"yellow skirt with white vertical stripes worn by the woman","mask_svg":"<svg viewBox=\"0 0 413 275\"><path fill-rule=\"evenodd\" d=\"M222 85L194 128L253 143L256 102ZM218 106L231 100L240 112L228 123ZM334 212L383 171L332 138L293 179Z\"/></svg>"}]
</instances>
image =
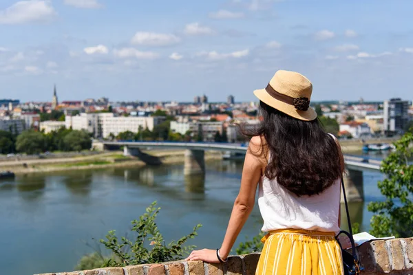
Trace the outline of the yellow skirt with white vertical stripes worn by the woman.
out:
<instances>
[{"instance_id":1,"label":"yellow skirt with white vertical stripes worn by the woman","mask_svg":"<svg viewBox=\"0 0 413 275\"><path fill-rule=\"evenodd\" d=\"M262 238L255 274L342 275L343 261L334 232L283 229Z\"/></svg>"}]
</instances>

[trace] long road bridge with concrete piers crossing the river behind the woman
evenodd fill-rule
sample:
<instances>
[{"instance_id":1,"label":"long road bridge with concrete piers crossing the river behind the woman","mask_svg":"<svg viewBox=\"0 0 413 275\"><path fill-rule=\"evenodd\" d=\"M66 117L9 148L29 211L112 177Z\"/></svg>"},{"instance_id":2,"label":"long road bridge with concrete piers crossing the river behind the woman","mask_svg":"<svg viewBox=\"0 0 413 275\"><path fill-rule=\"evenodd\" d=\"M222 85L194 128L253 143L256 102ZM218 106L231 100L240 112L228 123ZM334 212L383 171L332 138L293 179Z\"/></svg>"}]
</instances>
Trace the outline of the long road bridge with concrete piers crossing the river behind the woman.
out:
<instances>
[{"instance_id":1,"label":"long road bridge with concrete piers crossing the river behind the woman","mask_svg":"<svg viewBox=\"0 0 413 275\"><path fill-rule=\"evenodd\" d=\"M207 142L136 142L136 141L103 141L103 148L118 148L123 146L124 155L139 157L147 164L161 164L158 157L153 157L141 150L165 148L165 149L184 149L184 175L202 175L205 173L204 151L224 151L228 153L245 154L246 144L232 143L207 143ZM362 201L363 190L363 171L379 171L381 161L370 159L370 157L344 155L346 162L346 174L344 184L348 201ZM341 197L343 199L343 197Z\"/></svg>"}]
</instances>

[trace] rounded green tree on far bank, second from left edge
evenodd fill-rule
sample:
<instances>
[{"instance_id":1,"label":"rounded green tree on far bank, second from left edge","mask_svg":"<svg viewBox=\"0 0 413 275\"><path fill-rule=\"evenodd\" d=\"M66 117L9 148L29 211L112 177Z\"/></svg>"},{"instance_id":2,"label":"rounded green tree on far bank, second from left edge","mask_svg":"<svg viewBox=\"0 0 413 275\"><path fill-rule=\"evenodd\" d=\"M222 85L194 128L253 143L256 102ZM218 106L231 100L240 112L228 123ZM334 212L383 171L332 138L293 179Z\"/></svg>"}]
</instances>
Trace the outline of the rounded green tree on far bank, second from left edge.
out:
<instances>
[{"instance_id":1,"label":"rounded green tree on far bank, second from left edge","mask_svg":"<svg viewBox=\"0 0 413 275\"><path fill-rule=\"evenodd\" d=\"M33 130L24 131L17 136L16 149L29 155L41 153L45 148L45 137L40 132Z\"/></svg>"}]
</instances>

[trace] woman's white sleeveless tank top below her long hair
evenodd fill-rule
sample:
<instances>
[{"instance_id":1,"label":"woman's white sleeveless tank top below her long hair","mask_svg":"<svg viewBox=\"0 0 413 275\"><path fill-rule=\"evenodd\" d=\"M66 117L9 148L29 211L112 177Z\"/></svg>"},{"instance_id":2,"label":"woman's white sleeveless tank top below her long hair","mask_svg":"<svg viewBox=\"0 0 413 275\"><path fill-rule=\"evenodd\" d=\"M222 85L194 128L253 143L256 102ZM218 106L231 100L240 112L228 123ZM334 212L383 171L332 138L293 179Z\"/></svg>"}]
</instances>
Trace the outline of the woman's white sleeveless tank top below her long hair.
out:
<instances>
[{"instance_id":1,"label":"woman's white sleeveless tank top below her long hair","mask_svg":"<svg viewBox=\"0 0 413 275\"><path fill-rule=\"evenodd\" d=\"M319 195L297 197L279 185L277 179L263 176L258 193L258 206L264 219L262 231L295 228L337 234L340 188L341 180L337 179Z\"/></svg>"}]
</instances>

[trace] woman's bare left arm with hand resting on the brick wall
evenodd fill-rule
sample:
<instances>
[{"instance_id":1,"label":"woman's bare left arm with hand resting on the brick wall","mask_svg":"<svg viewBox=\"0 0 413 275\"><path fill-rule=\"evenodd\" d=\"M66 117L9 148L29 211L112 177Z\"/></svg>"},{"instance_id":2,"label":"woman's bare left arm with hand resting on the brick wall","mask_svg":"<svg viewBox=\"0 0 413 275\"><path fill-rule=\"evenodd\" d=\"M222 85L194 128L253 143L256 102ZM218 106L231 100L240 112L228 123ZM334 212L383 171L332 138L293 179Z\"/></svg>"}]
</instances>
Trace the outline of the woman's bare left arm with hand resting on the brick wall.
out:
<instances>
[{"instance_id":1,"label":"woman's bare left arm with hand resting on the brick wall","mask_svg":"<svg viewBox=\"0 0 413 275\"><path fill-rule=\"evenodd\" d=\"M266 166L266 157L262 153L261 144L260 137L253 137L248 146L242 170L240 192L235 199L228 228L220 248L220 256L223 260L228 257L238 234L240 234L254 207L257 184ZM195 250L189 255L187 260L219 263L215 250Z\"/></svg>"}]
</instances>

